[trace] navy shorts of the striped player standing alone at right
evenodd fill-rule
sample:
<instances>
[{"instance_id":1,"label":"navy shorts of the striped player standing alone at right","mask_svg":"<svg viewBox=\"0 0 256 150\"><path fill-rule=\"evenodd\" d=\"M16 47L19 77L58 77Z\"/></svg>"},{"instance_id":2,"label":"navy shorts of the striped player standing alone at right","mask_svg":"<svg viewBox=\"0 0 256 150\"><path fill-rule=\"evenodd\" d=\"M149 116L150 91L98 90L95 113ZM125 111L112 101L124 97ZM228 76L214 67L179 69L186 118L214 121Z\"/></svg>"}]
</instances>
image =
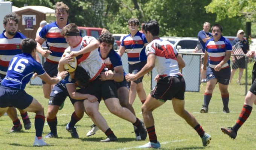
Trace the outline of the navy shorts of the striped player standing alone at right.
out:
<instances>
[{"instance_id":1,"label":"navy shorts of the striped player standing alone at right","mask_svg":"<svg viewBox=\"0 0 256 150\"><path fill-rule=\"evenodd\" d=\"M217 79L218 83L229 85L230 79L230 67L221 69L220 71L215 71L214 68L209 66L206 69L206 80Z\"/></svg>"}]
</instances>

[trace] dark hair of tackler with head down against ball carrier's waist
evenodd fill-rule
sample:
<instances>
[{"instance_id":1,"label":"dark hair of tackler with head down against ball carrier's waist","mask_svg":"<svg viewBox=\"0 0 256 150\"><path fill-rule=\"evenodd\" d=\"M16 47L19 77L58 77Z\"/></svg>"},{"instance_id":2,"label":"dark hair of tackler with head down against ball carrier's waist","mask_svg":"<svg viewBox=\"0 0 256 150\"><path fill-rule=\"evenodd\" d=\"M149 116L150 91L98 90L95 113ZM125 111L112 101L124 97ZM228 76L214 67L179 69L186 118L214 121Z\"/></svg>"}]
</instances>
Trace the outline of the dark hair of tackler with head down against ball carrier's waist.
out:
<instances>
[{"instance_id":1,"label":"dark hair of tackler with head down against ball carrier's waist","mask_svg":"<svg viewBox=\"0 0 256 150\"><path fill-rule=\"evenodd\" d=\"M75 70L75 80L81 87L87 87L90 81L90 75L84 68L77 66Z\"/></svg>"}]
</instances>

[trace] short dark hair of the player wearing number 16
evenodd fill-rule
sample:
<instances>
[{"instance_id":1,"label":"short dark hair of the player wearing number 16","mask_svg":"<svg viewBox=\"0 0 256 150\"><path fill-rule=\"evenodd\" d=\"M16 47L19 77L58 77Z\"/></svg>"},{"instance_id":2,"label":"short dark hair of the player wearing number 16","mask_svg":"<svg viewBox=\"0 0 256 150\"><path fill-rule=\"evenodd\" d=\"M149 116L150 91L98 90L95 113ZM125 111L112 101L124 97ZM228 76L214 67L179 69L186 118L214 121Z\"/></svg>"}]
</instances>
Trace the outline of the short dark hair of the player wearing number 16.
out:
<instances>
[{"instance_id":1,"label":"short dark hair of the player wearing number 16","mask_svg":"<svg viewBox=\"0 0 256 150\"><path fill-rule=\"evenodd\" d=\"M37 48L37 42L35 39L26 38L21 40L21 51L27 54L31 54L34 49Z\"/></svg>"}]
</instances>

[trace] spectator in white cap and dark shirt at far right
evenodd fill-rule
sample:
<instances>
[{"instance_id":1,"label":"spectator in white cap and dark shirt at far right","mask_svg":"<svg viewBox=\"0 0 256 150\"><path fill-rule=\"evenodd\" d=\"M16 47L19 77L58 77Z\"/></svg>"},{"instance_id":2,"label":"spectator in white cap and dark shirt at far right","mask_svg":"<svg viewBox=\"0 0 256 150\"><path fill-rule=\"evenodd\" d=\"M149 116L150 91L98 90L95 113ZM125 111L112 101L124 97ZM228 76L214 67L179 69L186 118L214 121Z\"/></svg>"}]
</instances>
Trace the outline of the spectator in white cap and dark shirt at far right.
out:
<instances>
[{"instance_id":1,"label":"spectator in white cap and dark shirt at far right","mask_svg":"<svg viewBox=\"0 0 256 150\"><path fill-rule=\"evenodd\" d=\"M247 50L249 49L249 45L247 40L244 39L244 30L238 30L236 34L236 39L233 40L233 46L236 45L236 43L239 43L240 47L242 48L244 54L247 53ZM235 56L232 56L232 70L231 70L231 75L230 75L230 80L229 82L232 81L232 78L236 72L236 69L239 68L239 74L238 74L238 80L236 83L241 84L241 78L243 76L243 72L245 69L245 56L242 58L236 58Z\"/></svg>"}]
</instances>

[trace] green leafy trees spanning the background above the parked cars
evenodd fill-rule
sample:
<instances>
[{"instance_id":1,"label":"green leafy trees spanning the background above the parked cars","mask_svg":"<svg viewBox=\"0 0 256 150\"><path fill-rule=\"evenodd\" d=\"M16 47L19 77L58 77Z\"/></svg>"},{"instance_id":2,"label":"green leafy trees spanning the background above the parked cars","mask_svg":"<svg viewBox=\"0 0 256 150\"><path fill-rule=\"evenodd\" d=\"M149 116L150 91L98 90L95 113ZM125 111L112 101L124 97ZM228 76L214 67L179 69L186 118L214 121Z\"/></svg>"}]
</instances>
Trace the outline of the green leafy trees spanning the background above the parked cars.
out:
<instances>
[{"instance_id":1,"label":"green leafy trees spanning the background above the parked cars","mask_svg":"<svg viewBox=\"0 0 256 150\"><path fill-rule=\"evenodd\" d=\"M22 7L26 3L53 8L58 0L11 1L17 7ZM76 23L78 26L104 27L111 33L128 34L127 21L130 18L138 18L140 23L154 19L160 24L160 36L181 37L197 37L198 31L203 29L203 23L206 21L221 24L224 27L224 35L235 36L237 30L245 29L246 19L240 15L245 16L245 12L254 14L256 5L253 0L62 1L70 7L69 23ZM234 13L237 9L242 13ZM230 13L230 16L226 17L226 13ZM220 20L220 17L226 19Z\"/></svg>"}]
</instances>

